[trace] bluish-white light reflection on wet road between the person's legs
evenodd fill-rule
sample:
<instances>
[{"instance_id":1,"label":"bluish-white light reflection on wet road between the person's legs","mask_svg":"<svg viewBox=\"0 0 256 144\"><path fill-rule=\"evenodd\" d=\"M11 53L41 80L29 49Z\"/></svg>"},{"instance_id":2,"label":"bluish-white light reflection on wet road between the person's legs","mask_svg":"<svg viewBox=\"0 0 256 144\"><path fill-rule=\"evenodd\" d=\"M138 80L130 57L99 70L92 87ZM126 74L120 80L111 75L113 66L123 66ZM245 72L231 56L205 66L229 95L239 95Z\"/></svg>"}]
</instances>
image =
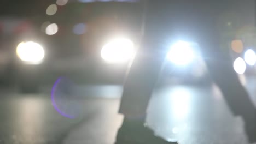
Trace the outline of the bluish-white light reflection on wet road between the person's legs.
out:
<instances>
[{"instance_id":1,"label":"bluish-white light reflection on wet road between the person's legs","mask_svg":"<svg viewBox=\"0 0 256 144\"><path fill-rule=\"evenodd\" d=\"M232 116L216 88L165 87L155 92L148 124L180 143L246 143L242 120ZM155 109L155 107L157 107Z\"/></svg>"}]
</instances>

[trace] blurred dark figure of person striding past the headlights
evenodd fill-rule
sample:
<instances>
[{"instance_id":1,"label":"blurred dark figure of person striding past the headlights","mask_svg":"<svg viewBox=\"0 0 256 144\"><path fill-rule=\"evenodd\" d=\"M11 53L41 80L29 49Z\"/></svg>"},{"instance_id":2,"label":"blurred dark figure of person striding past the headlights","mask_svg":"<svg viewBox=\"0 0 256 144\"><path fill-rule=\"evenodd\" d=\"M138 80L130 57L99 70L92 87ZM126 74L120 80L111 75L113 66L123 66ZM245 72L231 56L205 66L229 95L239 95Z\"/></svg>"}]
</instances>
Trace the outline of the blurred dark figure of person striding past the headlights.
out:
<instances>
[{"instance_id":1,"label":"blurred dark figure of person striding past the headlights","mask_svg":"<svg viewBox=\"0 0 256 144\"><path fill-rule=\"evenodd\" d=\"M208 71L236 116L242 116L250 142L256 142L256 111L238 80L228 49L220 46L219 16L233 7L232 0L149 0L141 49L124 85L120 113L124 122L116 143L176 143L154 136L144 127L149 99L170 43L193 41L200 45ZM171 42L170 42L171 41Z\"/></svg>"}]
</instances>

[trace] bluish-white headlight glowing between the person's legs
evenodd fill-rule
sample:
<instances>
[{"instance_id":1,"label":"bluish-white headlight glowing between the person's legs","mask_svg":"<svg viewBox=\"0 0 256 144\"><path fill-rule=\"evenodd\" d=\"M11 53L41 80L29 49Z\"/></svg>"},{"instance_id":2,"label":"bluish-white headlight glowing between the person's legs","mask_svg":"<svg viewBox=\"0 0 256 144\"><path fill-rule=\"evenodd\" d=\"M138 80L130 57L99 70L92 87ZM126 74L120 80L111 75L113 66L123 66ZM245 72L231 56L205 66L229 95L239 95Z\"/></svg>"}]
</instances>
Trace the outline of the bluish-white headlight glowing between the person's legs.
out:
<instances>
[{"instance_id":1,"label":"bluish-white headlight glowing between the person's legs","mask_svg":"<svg viewBox=\"0 0 256 144\"><path fill-rule=\"evenodd\" d=\"M178 41L171 46L167 53L168 61L176 65L188 65L195 59L195 52L190 43L186 41Z\"/></svg>"}]
</instances>

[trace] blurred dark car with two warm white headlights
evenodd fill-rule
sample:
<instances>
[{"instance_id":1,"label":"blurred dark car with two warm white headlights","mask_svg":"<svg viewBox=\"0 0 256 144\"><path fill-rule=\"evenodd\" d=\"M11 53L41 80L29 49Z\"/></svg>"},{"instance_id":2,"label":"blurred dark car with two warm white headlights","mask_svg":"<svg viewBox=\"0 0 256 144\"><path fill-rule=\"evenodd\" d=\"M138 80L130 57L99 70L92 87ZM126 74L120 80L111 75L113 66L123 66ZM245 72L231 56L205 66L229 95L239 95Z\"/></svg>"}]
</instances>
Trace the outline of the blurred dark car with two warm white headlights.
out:
<instances>
[{"instance_id":1,"label":"blurred dark car with two warm white headlights","mask_svg":"<svg viewBox=\"0 0 256 144\"><path fill-rule=\"evenodd\" d=\"M22 92L36 92L40 83L54 83L60 76L79 82L121 83L129 57L135 51L129 37L135 41L137 37L132 35L137 34L131 34L136 32L136 27L129 26L136 22L128 24L125 19L117 18L126 15L129 21L138 20L129 18L140 10L133 7L130 2L71 2L59 6L57 14L38 20L42 21L42 26L31 19L1 18L1 83L11 82ZM135 10L126 13L131 9ZM48 13L47 9L45 15ZM130 31L131 27L133 31ZM119 40L122 46L127 43L132 46L126 49L131 53L123 53L123 56L127 55L125 59L120 59L120 56L115 59L119 62L107 61L109 52L101 51L102 47L108 49L114 44L117 48Z\"/></svg>"}]
</instances>

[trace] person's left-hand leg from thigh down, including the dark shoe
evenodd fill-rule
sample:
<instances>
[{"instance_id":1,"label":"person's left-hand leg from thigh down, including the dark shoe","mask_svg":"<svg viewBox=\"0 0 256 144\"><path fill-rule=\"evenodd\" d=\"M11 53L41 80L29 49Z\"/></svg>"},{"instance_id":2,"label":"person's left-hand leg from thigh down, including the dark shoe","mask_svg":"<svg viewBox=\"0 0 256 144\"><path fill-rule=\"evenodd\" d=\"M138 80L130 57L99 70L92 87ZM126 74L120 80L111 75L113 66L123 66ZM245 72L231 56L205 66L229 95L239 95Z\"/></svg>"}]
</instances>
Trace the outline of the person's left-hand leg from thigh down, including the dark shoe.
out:
<instances>
[{"instance_id":1,"label":"person's left-hand leg from thigh down, including the dark shoe","mask_svg":"<svg viewBox=\"0 0 256 144\"><path fill-rule=\"evenodd\" d=\"M154 136L144 125L149 99L165 60L165 55L158 51L160 46L149 43L147 40L142 45L126 77L119 110L124 122L116 143L172 143Z\"/></svg>"}]
</instances>

